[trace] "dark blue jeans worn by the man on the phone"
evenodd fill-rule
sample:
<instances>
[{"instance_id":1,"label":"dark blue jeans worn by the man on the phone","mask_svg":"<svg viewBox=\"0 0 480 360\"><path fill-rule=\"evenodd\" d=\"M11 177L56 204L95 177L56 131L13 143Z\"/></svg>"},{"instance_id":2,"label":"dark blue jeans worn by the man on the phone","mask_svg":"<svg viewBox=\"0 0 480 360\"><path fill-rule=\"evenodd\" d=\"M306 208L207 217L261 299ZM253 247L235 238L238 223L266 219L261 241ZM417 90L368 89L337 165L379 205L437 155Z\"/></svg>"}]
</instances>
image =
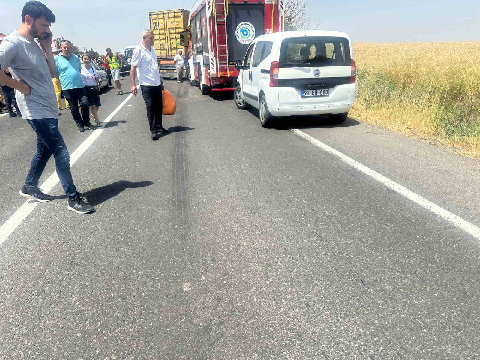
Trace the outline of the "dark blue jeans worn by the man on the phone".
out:
<instances>
[{"instance_id":1,"label":"dark blue jeans worn by the man on the phone","mask_svg":"<svg viewBox=\"0 0 480 360\"><path fill-rule=\"evenodd\" d=\"M28 120L28 123L36 132L36 153L25 180L26 188L28 190L38 188L38 180L40 180L48 159L53 154L61 186L69 199L75 199L79 194L73 184L70 154L59 131L59 120L54 118L35 119Z\"/></svg>"}]
</instances>

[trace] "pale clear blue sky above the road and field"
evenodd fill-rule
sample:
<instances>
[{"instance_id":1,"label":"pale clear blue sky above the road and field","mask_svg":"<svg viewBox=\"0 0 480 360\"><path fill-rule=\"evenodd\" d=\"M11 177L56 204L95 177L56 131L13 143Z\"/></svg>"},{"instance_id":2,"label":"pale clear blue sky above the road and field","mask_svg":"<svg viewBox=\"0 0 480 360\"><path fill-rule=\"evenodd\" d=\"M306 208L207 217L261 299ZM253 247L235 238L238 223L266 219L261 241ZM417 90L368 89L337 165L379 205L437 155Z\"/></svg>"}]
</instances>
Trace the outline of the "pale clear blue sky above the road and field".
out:
<instances>
[{"instance_id":1,"label":"pale clear blue sky above the road and field","mask_svg":"<svg viewBox=\"0 0 480 360\"><path fill-rule=\"evenodd\" d=\"M196 0L44 0L57 17L54 36L104 52L141 42L148 12L184 8ZM0 32L21 22L24 0L0 0ZM312 23L347 32L355 43L480 40L480 0L310 0Z\"/></svg>"}]
</instances>

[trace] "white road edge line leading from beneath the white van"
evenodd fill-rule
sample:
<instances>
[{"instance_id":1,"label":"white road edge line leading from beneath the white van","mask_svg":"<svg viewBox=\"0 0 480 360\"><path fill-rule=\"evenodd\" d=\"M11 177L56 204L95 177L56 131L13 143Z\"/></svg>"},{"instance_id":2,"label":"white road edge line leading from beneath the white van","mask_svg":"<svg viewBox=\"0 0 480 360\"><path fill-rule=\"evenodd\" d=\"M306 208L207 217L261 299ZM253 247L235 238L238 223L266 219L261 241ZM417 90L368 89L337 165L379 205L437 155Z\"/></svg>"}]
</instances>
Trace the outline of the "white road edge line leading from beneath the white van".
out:
<instances>
[{"instance_id":1,"label":"white road edge line leading from beneath the white van","mask_svg":"<svg viewBox=\"0 0 480 360\"><path fill-rule=\"evenodd\" d=\"M335 150L334 148L328 146L327 144L322 143L320 140L315 139L314 137L306 134L295 128L290 128L290 130L297 135L301 136L302 138L310 141L315 146L318 146L322 150L326 151L333 156L338 157L340 160L345 162L346 164L350 165L353 168L356 168L360 172L364 173L365 175L370 176L372 179L377 180L378 182L382 183L386 187L394 190L395 192L399 193L400 195L405 196L409 200L413 201L416 204L419 204L421 207L431 211L433 214L442 217L444 220L450 222L451 224L455 225L457 228L462 229L463 231L467 232L468 234L476 237L480 240L480 228L477 226L470 224L468 221L462 219L455 214L452 214L450 211L445 210L444 208L433 204L432 202L428 201L427 199L421 197L420 195L416 194L408 190L407 188L403 187L402 185L396 183L393 180L388 179L387 177L379 174L378 172L372 170L371 168L366 167L365 165L360 164L358 161L348 157L347 155Z\"/></svg>"}]
</instances>

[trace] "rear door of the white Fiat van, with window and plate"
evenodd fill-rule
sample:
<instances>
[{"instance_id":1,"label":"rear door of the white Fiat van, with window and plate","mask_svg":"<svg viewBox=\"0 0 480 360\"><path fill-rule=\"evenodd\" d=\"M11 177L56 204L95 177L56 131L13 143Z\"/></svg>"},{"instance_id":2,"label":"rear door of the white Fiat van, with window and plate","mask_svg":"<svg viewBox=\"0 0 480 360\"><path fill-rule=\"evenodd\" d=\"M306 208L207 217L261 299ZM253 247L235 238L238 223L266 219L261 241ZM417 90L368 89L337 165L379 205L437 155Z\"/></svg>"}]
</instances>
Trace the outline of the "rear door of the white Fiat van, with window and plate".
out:
<instances>
[{"instance_id":1,"label":"rear door of the white Fiat van, with window and plate","mask_svg":"<svg viewBox=\"0 0 480 360\"><path fill-rule=\"evenodd\" d=\"M285 38L280 48L278 69L279 105L334 105L348 102L350 59L350 44L345 37Z\"/></svg>"}]
</instances>

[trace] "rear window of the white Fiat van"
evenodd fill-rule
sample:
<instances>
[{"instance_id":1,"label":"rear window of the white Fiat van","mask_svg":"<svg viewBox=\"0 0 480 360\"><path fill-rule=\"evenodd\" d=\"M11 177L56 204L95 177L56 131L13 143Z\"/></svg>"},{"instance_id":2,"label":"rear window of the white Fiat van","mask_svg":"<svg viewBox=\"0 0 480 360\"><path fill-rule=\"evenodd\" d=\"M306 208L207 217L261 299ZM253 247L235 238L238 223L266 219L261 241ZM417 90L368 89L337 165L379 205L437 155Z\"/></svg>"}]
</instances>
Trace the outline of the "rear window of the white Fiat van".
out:
<instances>
[{"instance_id":1,"label":"rear window of the white Fiat van","mask_svg":"<svg viewBox=\"0 0 480 360\"><path fill-rule=\"evenodd\" d=\"M280 67L350 66L350 45L345 37L289 37L280 48Z\"/></svg>"}]
</instances>

